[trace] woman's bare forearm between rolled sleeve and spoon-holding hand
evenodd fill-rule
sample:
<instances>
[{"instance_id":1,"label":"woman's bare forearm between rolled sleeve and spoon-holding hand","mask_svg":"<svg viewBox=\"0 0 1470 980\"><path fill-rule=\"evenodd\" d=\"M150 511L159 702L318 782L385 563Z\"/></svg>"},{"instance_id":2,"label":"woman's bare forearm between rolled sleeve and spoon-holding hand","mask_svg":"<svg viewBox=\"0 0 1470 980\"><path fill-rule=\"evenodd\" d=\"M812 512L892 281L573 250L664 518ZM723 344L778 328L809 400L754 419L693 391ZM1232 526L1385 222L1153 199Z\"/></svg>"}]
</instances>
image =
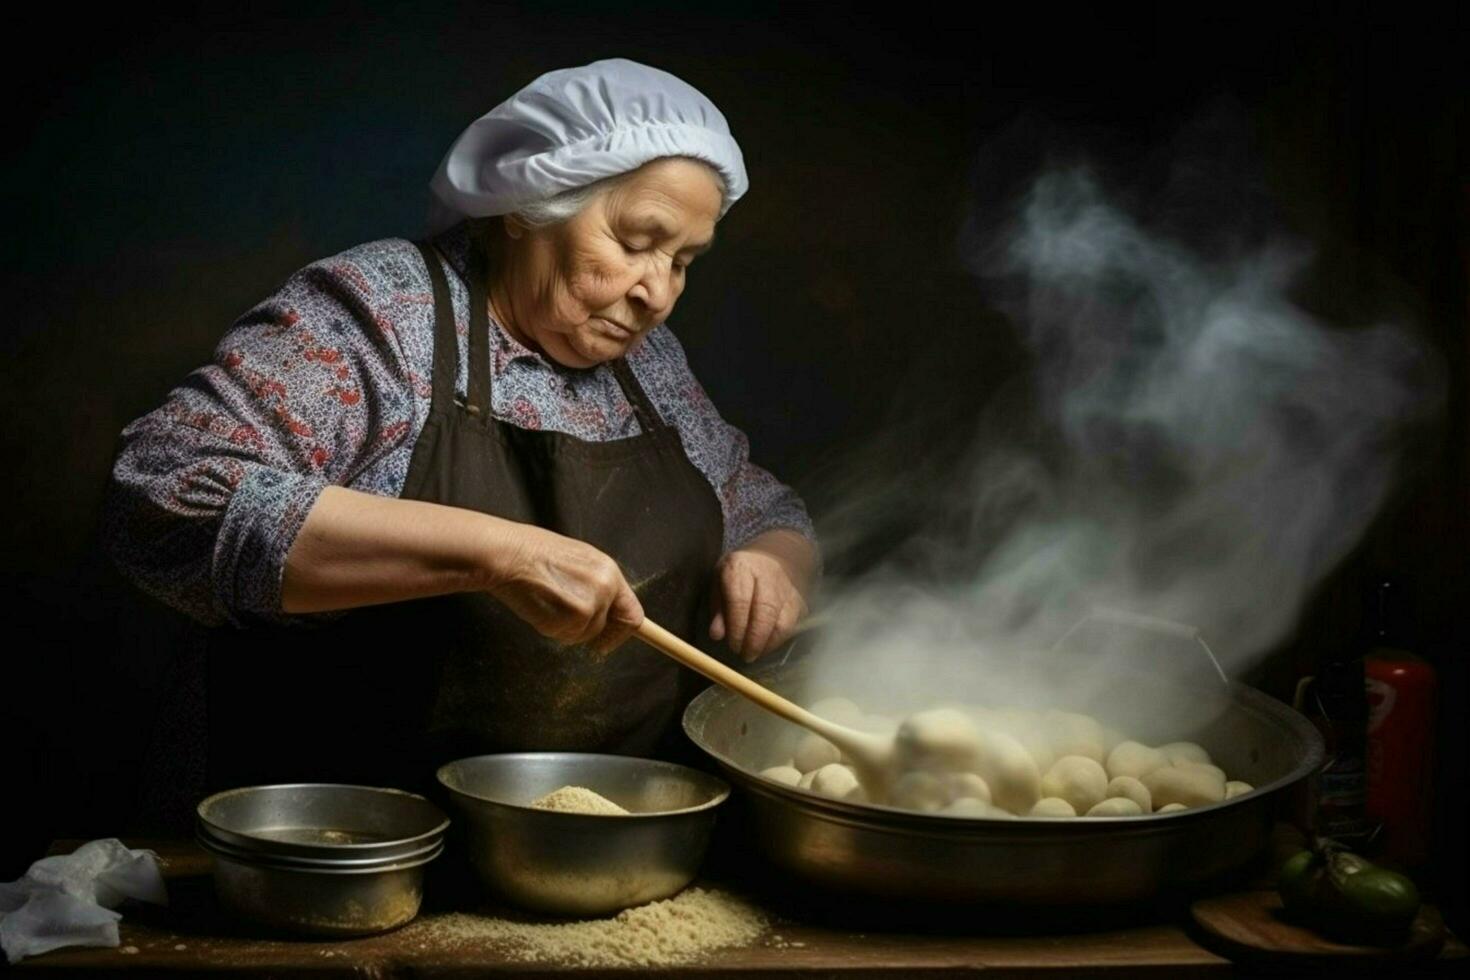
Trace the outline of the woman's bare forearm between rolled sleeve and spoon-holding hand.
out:
<instances>
[{"instance_id":1,"label":"woman's bare forearm between rolled sleeve and spoon-holding hand","mask_svg":"<svg viewBox=\"0 0 1470 980\"><path fill-rule=\"evenodd\" d=\"M491 589L522 532L473 510L328 486L287 554L281 607L323 613Z\"/></svg>"}]
</instances>

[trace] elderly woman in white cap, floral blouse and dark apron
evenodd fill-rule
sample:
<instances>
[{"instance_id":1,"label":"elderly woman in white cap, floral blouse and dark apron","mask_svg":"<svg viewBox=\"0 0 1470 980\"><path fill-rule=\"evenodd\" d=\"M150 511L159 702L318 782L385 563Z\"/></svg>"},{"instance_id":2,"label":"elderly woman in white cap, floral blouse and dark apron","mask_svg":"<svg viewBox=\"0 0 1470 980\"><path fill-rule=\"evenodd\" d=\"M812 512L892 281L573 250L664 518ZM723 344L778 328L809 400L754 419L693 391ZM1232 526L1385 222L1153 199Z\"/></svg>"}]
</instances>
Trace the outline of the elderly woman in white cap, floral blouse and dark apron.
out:
<instances>
[{"instance_id":1,"label":"elderly woman in white cap, floral blouse and dark apron","mask_svg":"<svg viewBox=\"0 0 1470 980\"><path fill-rule=\"evenodd\" d=\"M550 72L431 187L428 239L301 269L123 430L113 555L219 627L216 785L670 754L698 683L642 619L754 660L806 610L806 510L666 325L747 187L720 112Z\"/></svg>"}]
</instances>

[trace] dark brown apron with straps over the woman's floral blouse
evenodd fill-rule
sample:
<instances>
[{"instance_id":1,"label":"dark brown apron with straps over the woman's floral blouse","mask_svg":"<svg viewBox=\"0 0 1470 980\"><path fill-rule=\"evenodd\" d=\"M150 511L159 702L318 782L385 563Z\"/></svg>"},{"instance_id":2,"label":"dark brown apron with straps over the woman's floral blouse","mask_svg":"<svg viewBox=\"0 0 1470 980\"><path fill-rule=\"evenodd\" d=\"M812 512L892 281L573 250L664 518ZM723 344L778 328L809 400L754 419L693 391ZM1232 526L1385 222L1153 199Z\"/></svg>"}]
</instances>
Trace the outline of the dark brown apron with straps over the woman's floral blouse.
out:
<instances>
[{"instance_id":1,"label":"dark brown apron with straps over the woman's floral blouse","mask_svg":"<svg viewBox=\"0 0 1470 980\"><path fill-rule=\"evenodd\" d=\"M703 636L723 517L622 359L639 433L585 442L491 416L487 262L469 275L469 370L437 250L434 397L403 497L538 525L612 555L645 614ZM448 264L447 262L444 263ZM450 266L453 270L453 266ZM210 785L360 782L425 790L453 758L509 751L686 757L679 716L703 682L638 641L609 655L550 641L484 594L354 610L316 629L216 635Z\"/></svg>"}]
</instances>

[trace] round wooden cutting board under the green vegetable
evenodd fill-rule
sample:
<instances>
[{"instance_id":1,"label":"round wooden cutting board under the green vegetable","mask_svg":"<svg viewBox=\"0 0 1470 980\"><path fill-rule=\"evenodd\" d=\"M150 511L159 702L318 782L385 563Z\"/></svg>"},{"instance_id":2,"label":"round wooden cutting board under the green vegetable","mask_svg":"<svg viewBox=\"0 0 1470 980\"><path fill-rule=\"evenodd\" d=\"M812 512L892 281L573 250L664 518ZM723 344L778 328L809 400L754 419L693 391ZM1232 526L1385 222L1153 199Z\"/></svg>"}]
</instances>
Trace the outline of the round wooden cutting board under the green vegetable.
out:
<instances>
[{"instance_id":1,"label":"round wooden cutting board under the green vegetable","mask_svg":"<svg viewBox=\"0 0 1470 980\"><path fill-rule=\"evenodd\" d=\"M1189 907L1200 945L1238 962L1369 965L1416 962L1439 955L1445 923L1424 905L1396 946L1352 946L1319 936L1285 917L1280 895L1270 889L1201 898Z\"/></svg>"}]
</instances>

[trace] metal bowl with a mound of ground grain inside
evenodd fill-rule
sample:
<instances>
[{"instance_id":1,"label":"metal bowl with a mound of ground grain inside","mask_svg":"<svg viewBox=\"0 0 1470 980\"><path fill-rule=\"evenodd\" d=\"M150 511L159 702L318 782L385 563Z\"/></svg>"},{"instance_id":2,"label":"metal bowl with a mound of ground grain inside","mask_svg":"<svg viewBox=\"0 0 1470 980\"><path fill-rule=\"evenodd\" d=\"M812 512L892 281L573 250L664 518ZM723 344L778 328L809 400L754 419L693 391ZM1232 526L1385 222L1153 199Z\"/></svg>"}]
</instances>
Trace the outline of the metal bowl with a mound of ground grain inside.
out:
<instances>
[{"instance_id":1,"label":"metal bowl with a mound of ground grain inside","mask_svg":"<svg viewBox=\"0 0 1470 980\"><path fill-rule=\"evenodd\" d=\"M476 755L438 780L479 880L513 905L570 917L678 893L731 792L685 765L585 752Z\"/></svg>"}]
</instances>

